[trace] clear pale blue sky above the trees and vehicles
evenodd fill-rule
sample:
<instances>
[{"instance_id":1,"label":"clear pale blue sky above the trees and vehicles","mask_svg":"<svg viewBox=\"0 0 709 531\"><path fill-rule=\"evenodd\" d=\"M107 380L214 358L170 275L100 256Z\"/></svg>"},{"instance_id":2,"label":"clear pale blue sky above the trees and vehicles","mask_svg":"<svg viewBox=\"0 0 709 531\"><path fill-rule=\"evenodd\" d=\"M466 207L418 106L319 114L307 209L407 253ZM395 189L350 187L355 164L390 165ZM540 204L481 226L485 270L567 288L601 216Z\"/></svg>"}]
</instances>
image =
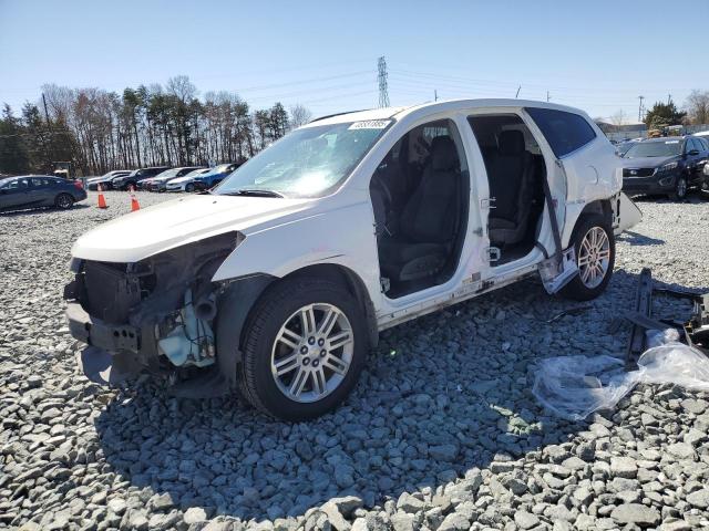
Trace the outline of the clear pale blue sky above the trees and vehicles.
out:
<instances>
[{"instance_id":1,"label":"clear pale blue sky above the trees and vehicles","mask_svg":"<svg viewBox=\"0 0 709 531\"><path fill-rule=\"evenodd\" d=\"M0 0L0 103L41 86L226 90L315 116L461 97L547 100L637 122L709 90L709 0Z\"/></svg>"}]
</instances>

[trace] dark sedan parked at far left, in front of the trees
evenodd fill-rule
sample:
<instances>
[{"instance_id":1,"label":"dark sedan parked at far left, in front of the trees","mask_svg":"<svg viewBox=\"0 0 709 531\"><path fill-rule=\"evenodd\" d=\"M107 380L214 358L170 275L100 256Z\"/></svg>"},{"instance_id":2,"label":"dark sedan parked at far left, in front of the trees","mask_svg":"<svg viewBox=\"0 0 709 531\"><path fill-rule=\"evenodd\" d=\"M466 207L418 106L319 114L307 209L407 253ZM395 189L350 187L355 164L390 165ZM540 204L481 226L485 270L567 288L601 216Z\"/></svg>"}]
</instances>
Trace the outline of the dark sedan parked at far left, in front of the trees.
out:
<instances>
[{"instance_id":1,"label":"dark sedan parked at far left, in front of the trees","mask_svg":"<svg viewBox=\"0 0 709 531\"><path fill-rule=\"evenodd\" d=\"M86 199L81 180L49 175L24 175L0 179L0 210L28 207L71 208Z\"/></svg>"}]
</instances>

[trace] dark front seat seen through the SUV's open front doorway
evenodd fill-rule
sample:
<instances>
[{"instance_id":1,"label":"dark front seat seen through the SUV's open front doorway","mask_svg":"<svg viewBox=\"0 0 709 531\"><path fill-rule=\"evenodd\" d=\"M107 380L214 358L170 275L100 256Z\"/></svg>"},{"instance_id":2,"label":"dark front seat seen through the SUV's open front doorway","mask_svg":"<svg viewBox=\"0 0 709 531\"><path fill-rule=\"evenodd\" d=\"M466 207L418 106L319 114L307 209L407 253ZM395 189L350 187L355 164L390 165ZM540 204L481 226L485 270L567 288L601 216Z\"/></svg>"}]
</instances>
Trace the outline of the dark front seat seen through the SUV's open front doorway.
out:
<instances>
[{"instance_id":1,"label":"dark front seat seen through the SUV's open front doorway","mask_svg":"<svg viewBox=\"0 0 709 531\"><path fill-rule=\"evenodd\" d=\"M461 215L460 180L455 144L450 136L436 136L421 183L403 207L398 232L380 240L381 269L389 280L418 280L441 271Z\"/></svg>"}]
</instances>

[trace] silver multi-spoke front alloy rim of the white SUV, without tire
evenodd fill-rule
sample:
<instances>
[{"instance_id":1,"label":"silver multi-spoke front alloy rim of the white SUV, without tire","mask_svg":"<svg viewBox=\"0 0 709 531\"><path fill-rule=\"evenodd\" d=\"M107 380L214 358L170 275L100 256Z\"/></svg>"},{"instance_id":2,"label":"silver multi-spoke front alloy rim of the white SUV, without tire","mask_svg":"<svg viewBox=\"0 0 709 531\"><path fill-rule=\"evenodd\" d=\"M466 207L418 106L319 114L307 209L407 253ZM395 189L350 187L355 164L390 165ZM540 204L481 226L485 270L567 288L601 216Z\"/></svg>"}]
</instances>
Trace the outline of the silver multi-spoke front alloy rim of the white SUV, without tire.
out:
<instances>
[{"instance_id":1,"label":"silver multi-spoke front alloy rim of the white SUV, without tire","mask_svg":"<svg viewBox=\"0 0 709 531\"><path fill-rule=\"evenodd\" d=\"M298 403L318 402L337 389L352 362L354 335L333 304L294 312L276 334L270 368L278 389Z\"/></svg>"}]
</instances>

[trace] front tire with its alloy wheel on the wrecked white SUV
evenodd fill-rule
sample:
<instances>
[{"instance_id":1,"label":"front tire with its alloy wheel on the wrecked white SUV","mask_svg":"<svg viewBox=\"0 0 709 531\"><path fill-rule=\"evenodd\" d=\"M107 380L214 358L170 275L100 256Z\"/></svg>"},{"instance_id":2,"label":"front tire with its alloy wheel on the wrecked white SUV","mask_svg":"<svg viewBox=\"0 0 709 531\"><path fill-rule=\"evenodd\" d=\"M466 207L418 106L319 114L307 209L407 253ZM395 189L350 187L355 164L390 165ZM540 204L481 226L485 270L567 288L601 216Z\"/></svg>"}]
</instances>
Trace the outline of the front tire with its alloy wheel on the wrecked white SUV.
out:
<instances>
[{"instance_id":1,"label":"front tire with its alloy wheel on the wrecked white SUV","mask_svg":"<svg viewBox=\"0 0 709 531\"><path fill-rule=\"evenodd\" d=\"M308 327L316 330L312 335L302 333L304 315ZM327 333L319 333L330 321ZM328 346L338 337L335 347ZM264 292L247 320L244 362L237 374L240 393L273 417L289 421L318 417L354 387L367 343L359 304L346 289L319 279L278 282Z\"/></svg>"}]
</instances>

